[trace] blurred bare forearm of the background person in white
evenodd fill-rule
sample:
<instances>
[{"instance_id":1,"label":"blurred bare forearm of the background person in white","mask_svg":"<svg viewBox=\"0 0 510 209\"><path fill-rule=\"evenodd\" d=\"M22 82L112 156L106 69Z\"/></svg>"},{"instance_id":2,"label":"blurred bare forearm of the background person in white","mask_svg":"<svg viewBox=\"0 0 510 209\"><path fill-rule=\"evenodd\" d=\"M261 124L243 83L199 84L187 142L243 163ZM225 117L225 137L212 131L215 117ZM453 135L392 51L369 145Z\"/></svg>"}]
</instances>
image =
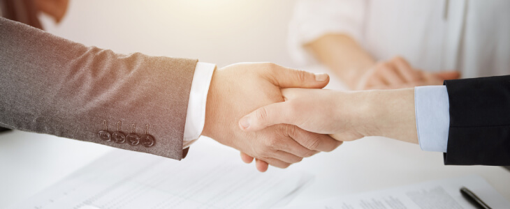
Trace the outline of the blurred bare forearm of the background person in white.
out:
<instances>
[{"instance_id":1,"label":"blurred bare forearm of the background person in white","mask_svg":"<svg viewBox=\"0 0 510 209\"><path fill-rule=\"evenodd\" d=\"M372 56L347 35L327 34L305 47L351 89L356 88L360 77L375 64Z\"/></svg>"}]
</instances>

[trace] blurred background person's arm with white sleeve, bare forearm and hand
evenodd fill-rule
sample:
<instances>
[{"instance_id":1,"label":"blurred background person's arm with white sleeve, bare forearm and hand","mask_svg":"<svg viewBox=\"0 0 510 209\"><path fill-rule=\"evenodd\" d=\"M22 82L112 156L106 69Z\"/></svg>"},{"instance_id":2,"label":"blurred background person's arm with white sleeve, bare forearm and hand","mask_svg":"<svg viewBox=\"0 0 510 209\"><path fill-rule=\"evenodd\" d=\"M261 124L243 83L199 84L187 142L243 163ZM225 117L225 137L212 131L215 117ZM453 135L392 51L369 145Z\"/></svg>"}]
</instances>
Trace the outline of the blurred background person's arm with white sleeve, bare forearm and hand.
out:
<instances>
[{"instance_id":1,"label":"blurred background person's arm with white sleeve, bare forearm and hand","mask_svg":"<svg viewBox=\"0 0 510 209\"><path fill-rule=\"evenodd\" d=\"M302 0L289 26L291 55L298 62L319 61L350 89L408 88L440 85L458 72L428 73L404 58L375 60L360 45L368 1ZM405 56L405 54L402 54Z\"/></svg>"}]
</instances>

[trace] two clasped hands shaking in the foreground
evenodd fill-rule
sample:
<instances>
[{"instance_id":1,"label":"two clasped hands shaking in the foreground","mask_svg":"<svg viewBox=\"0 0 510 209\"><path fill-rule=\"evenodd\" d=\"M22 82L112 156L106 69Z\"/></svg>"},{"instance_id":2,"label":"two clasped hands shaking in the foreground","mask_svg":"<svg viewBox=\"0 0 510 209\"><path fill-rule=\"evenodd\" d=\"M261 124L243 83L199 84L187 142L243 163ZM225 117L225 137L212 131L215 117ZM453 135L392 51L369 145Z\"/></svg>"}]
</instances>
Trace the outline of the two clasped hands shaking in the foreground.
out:
<instances>
[{"instance_id":1,"label":"two clasped hands shaking in the foreground","mask_svg":"<svg viewBox=\"0 0 510 209\"><path fill-rule=\"evenodd\" d=\"M330 91L326 74L272 63L240 63L214 72L202 135L268 165L286 168L319 151L368 136L418 143L414 90Z\"/></svg>"}]
</instances>

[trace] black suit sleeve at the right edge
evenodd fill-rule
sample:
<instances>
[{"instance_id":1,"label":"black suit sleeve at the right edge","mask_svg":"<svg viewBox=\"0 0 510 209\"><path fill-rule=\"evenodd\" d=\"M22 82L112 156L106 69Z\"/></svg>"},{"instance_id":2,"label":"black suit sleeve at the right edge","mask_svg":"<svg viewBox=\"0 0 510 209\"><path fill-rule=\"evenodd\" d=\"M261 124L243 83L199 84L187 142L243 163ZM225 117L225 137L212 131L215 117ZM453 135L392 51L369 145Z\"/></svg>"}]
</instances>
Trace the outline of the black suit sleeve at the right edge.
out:
<instances>
[{"instance_id":1,"label":"black suit sleeve at the right edge","mask_svg":"<svg viewBox=\"0 0 510 209\"><path fill-rule=\"evenodd\" d=\"M450 103L444 164L510 165L510 75L444 84Z\"/></svg>"}]
</instances>

